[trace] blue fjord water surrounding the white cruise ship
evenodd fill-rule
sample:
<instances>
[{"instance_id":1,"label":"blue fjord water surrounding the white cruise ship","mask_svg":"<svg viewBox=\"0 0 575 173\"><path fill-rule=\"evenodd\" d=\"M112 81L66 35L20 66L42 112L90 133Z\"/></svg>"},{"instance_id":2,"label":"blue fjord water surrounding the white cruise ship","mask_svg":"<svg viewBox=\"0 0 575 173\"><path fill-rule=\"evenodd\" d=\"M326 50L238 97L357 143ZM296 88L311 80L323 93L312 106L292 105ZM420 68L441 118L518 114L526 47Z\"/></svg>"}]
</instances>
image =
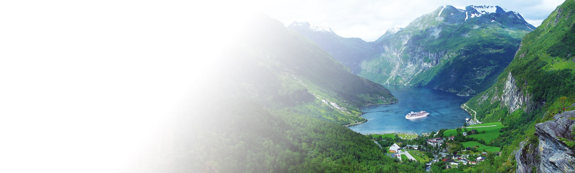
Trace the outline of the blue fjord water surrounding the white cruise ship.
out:
<instances>
[{"instance_id":1,"label":"blue fjord water surrounding the white cruise ship","mask_svg":"<svg viewBox=\"0 0 575 173\"><path fill-rule=\"evenodd\" d=\"M455 93L408 85L384 85L399 101L385 105L360 108L366 123L350 126L355 132L374 133L429 133L439 129L461 127L469 113L460 108L471 97ZM427 111L430 115L420 119L405 119L409 112Z\"/></svg>"}]
</instances>

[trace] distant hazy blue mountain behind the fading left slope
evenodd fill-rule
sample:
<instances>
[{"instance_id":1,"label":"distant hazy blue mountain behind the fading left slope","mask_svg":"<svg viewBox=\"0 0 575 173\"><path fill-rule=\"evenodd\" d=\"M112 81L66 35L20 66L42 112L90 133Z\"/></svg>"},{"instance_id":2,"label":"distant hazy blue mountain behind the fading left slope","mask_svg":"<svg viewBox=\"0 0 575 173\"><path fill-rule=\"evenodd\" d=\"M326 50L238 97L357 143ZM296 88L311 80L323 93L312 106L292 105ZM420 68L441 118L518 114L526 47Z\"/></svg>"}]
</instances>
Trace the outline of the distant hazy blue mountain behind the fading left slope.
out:
<instances>
[{"instance_id":1,"label":"distant hazy blue mountain behind the fading left slope","mask_svg":"<svg viewBox=\"0 0 575 173\"><path fill-rule=\"evenodd\" d=\"M375 56L378 52L373 42L366 42L361 38L340 37L329 27L313 26L308 22L297 21L287 27L316 42L333 58L349 67L354 74L361 70L359 68L361 61Z\"/></svg>"}]
</instances>

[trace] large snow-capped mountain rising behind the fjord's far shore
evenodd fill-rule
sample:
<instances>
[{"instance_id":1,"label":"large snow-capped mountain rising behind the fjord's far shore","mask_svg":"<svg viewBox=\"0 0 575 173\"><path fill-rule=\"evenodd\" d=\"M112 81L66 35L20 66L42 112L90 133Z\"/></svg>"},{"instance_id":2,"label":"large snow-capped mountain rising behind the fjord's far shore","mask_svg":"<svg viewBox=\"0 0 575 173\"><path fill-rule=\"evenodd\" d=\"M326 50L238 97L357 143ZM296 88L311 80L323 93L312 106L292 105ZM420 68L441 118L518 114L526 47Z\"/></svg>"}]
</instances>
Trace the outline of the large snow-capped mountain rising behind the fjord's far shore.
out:
<instances>
[{"instance_id":1,"label":"large snow-capped mountain rising behind the fjord's far shore","mask_svg":"<svg viewBox=\"0 0 575 173\"><path fill-rule=\"evenodd\" d=\"M493 84L533 29L499 6L440 6L375 41L382 53L362 61L358 75L474 95Z\"/></svg>"}]
</instances>

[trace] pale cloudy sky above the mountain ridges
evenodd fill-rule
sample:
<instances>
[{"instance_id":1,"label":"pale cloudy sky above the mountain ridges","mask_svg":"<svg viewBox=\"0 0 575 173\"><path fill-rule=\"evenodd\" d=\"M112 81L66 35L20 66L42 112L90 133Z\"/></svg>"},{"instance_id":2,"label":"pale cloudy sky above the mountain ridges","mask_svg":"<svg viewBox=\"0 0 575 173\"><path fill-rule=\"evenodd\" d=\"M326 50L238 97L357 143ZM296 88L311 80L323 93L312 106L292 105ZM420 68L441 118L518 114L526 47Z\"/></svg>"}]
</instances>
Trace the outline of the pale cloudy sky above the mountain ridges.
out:
<instances>
[{"instance_id":1,"label":"pale cloudy sky above the mountain ridges","mask_svg":"<svg viewBox=\"0 0 575 173\"><path fill-rule=\"evenodd\" d=\"M331 27L342 37L359 37L375 41L394 27L405 27L423 14L443 5L500 6L507 11L521 14L531 25L539 26L543 19L563 0L484 0L484 1L263 1L254 7L271 18L289 26L293 21L309 22L311 25Z\"/></svg>"}]
</instances>

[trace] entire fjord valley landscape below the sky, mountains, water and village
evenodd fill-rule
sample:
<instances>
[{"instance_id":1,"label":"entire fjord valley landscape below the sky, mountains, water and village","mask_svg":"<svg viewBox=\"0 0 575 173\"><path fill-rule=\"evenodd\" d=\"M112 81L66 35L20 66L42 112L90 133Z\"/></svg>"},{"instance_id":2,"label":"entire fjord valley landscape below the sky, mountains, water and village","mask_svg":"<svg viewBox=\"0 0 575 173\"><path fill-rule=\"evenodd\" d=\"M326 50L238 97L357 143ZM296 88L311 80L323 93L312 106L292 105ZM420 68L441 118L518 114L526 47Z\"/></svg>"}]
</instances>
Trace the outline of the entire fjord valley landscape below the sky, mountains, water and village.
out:
<instances>
[{"instance_id":1,"label":"entire fjord valley landscape below the sky, mountains, water and village","mask_svg":"<svg viewBox=\"0 0 575 173\"><path fill-rule=\"evenodd\" d=\"M258 14L193 95L202 101L191 112L213 116L175 119L170 166L565 172L575 146L574 4L539 27L499 6L444 5L373 42ZM430 115L405 119L411 111Z\"/></svg>"}]
</instances>

